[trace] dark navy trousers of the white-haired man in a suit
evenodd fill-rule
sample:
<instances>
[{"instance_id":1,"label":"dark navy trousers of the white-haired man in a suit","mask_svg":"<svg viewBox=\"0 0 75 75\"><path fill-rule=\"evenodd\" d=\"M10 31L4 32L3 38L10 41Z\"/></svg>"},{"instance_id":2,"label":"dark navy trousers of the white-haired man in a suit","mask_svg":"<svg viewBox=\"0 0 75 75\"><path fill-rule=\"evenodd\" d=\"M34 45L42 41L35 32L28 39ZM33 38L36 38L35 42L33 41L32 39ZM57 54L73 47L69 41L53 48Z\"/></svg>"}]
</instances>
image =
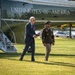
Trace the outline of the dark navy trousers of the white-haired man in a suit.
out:
<instances>
[{"instance_id":1,"label":"dark navy trousers of the white-haired man in a suit","mask_svg":"<svg viewBox=\"0 0 75 75\"><path fill-rule=\"evenodd\" d=\"M23 52L22 52L22 54L21 54L20 60L23 59L23 57L24 57L24 55L26 54L26 51L28 50L29 47L31 47L31 60L34 60L35 41L29 42L29 43L25 43L25 47L24 47Z\"/></svg>"}]
</instances>

